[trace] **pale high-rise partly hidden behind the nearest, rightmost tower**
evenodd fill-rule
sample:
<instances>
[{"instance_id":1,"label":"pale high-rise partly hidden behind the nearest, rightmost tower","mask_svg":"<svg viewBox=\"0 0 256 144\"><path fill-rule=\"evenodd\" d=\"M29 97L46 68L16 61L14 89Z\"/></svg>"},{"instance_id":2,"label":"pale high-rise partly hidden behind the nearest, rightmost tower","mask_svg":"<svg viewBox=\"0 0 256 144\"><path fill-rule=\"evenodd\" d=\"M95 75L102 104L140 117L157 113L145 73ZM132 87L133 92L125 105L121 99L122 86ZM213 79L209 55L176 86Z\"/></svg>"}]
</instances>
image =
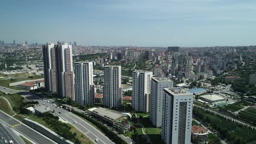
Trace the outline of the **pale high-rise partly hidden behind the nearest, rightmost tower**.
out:
<instances>
[{"instance_id":1,"label":"pale high-rise partly hidden behind the nearest, rightmost tower","mask_svg":"<svg viewBox=\"0 0 256 144\"><path fill-rule=\"evenodd\" d=\"M164 88L173 87L173 81L165 77L151 79L151 95L149 102L149 120L157 128L162 124Z\"/></svg>"}]
</instances>

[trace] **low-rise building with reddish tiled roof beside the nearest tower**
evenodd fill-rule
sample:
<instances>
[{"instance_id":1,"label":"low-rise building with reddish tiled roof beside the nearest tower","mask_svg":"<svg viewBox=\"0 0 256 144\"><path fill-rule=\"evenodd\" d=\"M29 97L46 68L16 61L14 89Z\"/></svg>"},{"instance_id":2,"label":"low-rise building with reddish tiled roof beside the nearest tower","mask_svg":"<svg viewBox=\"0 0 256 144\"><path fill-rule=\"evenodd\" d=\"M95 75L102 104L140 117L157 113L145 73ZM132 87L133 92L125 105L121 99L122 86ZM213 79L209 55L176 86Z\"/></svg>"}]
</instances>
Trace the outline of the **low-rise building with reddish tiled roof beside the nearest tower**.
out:
<instances>
[{"instance_id":1,"label":"low-rise building with reddish tiled roof beside the nearest tower","mask_svg":"<svg viewBox=\"0 0 256 144\"><path fill-rule=\"evenodd\" d=\"M191 130L191 139L194 144L208 144L207 139L209 132L205 128L192 125Z\"/></svg>"}]
</instances>

